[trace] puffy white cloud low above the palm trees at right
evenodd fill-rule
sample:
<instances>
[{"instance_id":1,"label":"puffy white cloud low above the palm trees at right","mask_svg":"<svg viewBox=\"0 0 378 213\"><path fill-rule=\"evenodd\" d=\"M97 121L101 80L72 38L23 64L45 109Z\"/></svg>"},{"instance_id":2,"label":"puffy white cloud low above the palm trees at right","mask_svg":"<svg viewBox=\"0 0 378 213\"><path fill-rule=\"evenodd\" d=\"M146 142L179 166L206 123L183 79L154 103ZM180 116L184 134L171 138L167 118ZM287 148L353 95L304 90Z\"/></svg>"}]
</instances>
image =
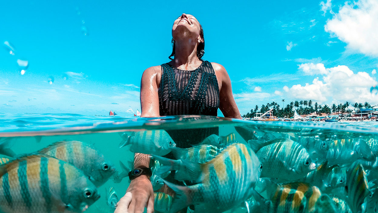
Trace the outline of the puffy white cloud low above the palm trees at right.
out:
<instances>
[{"instance_id":1,"label":"puffy white cloud low above the palm trees at right","mask_svg":"<svg viewBox=\"0 0 378 213\"><path fill-rule=\"evenodd\" d=\"M367 73L354 73L349 67L339 65L325 68L324 64L301 64L307 74L322 74L322 79L314 78L312 83L293 85L285 89L296 99L311 99L324 102L376 102L377 97L370 93L370 87L377 82ZM310 67L310 68L308 68ZM311 68L312 67L312 68ZM321 67L321 68L319 68ZM324 67L324 69L323 69ZM308 68L308 69L307 69Z\"/></svg>"}]
</instances>

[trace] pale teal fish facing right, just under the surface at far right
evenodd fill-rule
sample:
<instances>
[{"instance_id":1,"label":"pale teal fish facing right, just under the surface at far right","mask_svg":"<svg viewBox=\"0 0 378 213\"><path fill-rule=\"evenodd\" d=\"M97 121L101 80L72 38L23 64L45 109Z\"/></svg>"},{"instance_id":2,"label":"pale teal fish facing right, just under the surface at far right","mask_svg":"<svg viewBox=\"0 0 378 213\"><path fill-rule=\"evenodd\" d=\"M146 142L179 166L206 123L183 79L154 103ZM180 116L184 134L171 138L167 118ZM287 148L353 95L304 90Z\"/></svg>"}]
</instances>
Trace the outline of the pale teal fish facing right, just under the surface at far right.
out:
<instances>
[{"instance_id":1,"label":"pale teal fish facing right, just under the surface at far right","mask_svg":"<svg viewBox=\"0 0 378 213\"><path fill-rule=\"evenodd\" d=\"M339 139L329 142L326 157L329 166L338 164L340 167L345 167L358 159L367 161L376 159L369 145L363 139Z\"/></svg>"}]
</instances>

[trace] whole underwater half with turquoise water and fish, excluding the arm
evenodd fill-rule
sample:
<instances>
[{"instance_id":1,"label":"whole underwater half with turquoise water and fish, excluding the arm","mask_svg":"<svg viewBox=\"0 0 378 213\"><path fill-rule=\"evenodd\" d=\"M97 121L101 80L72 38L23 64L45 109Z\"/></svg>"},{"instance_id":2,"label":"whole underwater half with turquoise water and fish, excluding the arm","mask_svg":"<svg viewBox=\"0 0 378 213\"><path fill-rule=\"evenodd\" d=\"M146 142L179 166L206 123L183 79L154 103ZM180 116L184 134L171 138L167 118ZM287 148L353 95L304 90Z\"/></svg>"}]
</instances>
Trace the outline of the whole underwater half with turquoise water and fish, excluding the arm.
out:
<instances>
[{"instance_id":1,"label":"whole underwater half with turquoise water and fish, excluding the arm","mask_svg":"<svg viewBox=\"0 0 378 213\"><path fill-rule=\"evenodd\" d=\"M114 212L134 153L155 212L376 212L375 122L1 116L4 213ZM145 211L146 212L146 211Z\"/></svg>"}]
</instances>

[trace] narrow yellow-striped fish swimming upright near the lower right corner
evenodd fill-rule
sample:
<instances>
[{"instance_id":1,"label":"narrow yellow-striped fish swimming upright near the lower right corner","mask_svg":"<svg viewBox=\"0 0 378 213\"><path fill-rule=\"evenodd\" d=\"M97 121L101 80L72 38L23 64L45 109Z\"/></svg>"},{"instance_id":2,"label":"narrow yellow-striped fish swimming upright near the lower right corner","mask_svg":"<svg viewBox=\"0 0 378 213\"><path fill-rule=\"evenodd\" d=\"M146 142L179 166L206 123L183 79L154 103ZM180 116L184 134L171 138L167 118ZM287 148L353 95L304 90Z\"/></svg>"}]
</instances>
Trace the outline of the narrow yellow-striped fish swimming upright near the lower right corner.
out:
<instances>
[{"instance_id":1,"label":"narrow yellow-striped fish swimming upright near the lower right corner","mask_svg":"<svg viewBox=\"0 0 378 213\"><path fill-rule=\"evenodd\" d=\"M347 202L354 213L362 212L361 205L364 204L365 198L369 195L369 186L366 179L366 173L361 163L356 161L347 170Z\"/></svg>"}]
</instances>

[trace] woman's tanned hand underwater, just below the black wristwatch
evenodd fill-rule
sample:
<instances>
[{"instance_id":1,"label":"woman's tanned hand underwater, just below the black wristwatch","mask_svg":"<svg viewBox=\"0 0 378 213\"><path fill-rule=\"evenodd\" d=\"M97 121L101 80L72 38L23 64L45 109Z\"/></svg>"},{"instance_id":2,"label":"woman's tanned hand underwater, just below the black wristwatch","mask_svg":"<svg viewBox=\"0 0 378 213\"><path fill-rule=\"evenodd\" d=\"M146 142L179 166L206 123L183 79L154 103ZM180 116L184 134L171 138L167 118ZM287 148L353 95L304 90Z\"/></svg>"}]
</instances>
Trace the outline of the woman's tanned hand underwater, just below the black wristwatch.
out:
<instances>
[{"instance_id":1,"label":"woman's tanned hand underwater, just below the black wristwatch","mask_svg":"<svg viewBox=\"0 0 378 213\"><path fill-rule=\"evenodd\" d=\"M147 213L153 213L155 197L153 196L152 183L146 175L141 175L132 180L127 192L133 195L127 213L143 213L146 206Z\"/></svg>"}]
</instances>

